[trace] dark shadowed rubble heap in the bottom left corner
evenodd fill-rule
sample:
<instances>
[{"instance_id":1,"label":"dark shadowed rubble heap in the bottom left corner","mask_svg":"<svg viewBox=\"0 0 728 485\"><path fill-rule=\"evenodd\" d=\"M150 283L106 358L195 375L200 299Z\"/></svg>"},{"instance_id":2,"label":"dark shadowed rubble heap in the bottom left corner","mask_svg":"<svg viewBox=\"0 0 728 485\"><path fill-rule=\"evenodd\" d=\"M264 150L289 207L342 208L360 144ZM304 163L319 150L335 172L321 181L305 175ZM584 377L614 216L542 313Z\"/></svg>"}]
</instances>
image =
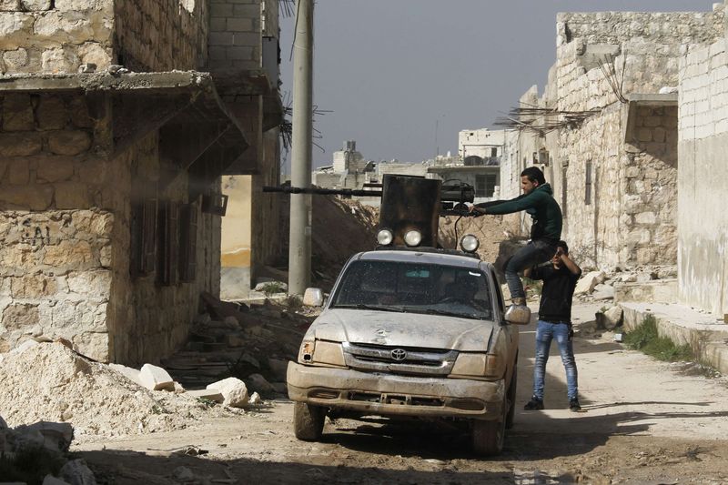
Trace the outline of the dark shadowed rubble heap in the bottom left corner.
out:
<instances>
[{"instance_id":1,"label":"dark shadowed rubble heap in the bottom left corner","mask_svg":"<svg viewBox=\"0 0 728 485\"><path fill-rule=\"evenodd\" d=\"M40 421L8 428L0 417L0 479L44 485L96 485L84 460L68 460L74 429Z\"/></svg>"}]
</instances>

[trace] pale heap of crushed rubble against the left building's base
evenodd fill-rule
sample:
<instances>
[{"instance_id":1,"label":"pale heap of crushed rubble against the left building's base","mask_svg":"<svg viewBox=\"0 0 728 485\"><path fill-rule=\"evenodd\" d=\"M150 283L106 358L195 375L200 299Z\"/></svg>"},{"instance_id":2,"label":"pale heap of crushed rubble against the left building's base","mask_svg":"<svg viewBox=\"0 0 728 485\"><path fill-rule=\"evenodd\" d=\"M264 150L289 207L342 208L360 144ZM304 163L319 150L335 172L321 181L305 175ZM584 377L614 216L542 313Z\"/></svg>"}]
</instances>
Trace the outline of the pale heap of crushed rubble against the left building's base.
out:
<instances>
[{"instance_id":1,"label":"pale heap of crushed rubble against the left building's base","mask_svg":"<svg viewBox=\"0 0 728 485\"><path fill-rule=\"evenodd\" d=\"M146 389L60 343L5 354L0 362L0 409L15 426L61 421L73 423L77 434L117 436L183 429L213 412L173 389Z\"/></svg>"}]
</instances>

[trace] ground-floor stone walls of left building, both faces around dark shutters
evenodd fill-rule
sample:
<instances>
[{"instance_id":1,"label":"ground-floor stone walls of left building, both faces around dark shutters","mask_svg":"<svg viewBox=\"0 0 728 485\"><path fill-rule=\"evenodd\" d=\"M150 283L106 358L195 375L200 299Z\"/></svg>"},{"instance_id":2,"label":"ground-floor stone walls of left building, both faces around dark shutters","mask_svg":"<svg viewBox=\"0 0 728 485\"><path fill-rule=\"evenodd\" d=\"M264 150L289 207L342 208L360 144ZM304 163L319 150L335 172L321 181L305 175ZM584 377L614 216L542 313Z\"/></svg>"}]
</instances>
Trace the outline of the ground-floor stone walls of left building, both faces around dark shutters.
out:
<instances>
[{"instance_id":1,"label":"ground-floor stone walls of left building, both faces around dark shutters","mask_svg":"<svg viewBox=\"0 0 728 485\"><path fill-rule=\"evenodd\" d=\"M197 207L197 278L131 279L133 187L159 177L157 133L108 159L108 119L80 95L0 96L0 350L44 335L139 364L187 337L199 293L219 291L220 217ZM181 175L159 197L187 202Z\"/></svg>"}]
</instances>

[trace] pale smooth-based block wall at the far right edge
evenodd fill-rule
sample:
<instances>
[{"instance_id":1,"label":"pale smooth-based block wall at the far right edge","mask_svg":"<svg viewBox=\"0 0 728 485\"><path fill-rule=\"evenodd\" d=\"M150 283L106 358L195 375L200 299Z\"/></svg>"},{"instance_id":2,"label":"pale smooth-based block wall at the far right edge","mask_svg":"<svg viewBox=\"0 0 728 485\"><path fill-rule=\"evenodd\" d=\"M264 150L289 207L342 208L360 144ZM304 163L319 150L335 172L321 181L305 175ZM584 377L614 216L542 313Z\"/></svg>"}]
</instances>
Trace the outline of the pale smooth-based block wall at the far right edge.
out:
<instances>
[{"instance_id":1,"label":"pale smooth-based block wall at the far right edge","mask_svg":"<svg viewBox=\"0 0 728 485\"><path fill-rule=\"evenodd\" d=\"M692 46L680 64L678 278L682 302L728 313L728 55L725 40Z\"/></svg>"}]
</instances>

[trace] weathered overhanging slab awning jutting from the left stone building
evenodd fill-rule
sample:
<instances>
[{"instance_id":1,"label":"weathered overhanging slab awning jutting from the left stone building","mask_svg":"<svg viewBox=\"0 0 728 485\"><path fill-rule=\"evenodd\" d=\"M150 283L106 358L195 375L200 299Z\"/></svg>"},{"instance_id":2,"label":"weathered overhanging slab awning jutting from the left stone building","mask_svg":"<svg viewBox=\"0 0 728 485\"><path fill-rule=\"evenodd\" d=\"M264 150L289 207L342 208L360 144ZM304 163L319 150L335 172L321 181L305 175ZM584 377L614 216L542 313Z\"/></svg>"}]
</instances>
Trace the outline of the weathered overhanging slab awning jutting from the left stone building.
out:
<instances>
[{"instance_id":1,"label":"weathered overhanging slab awning jutting from the left stone building","mask_svg":"<svg viewBox=\"0 0 728 485\"><path fill-rule=\"evenodd\" d=\"M96 110L96 119L111 116L109 158L159 130L160 157L177 173L189 172L190 197L205 191L249 146L243 127L218 96L208 73L0 76L0 96L11 93L83 94ZM167 183L173 178L167 177Z\"/></svg>"}]
</instances>

